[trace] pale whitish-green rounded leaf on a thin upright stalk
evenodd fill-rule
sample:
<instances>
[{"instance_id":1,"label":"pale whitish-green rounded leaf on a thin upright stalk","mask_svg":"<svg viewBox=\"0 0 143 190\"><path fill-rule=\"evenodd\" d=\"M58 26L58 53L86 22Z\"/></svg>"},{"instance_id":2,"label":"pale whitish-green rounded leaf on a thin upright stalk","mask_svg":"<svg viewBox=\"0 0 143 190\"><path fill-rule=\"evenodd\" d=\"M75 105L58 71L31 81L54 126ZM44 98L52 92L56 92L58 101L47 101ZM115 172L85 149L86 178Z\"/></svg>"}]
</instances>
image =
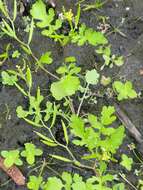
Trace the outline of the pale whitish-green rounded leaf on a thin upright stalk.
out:
<instances>
[{"instance_id":1,"label":"pale whitish-green rounded leaf on a thin upright stalk","mask_svg":"<svg viewBox=\"0 0 143 190\"><path fill-rule=\"evenodd\" d=\"M88 84L96 85L98 83L99 76L100 75L98 74L98 72L93 69L91 71L87 71L85 79Z\"/></svg>"}]
</instances>

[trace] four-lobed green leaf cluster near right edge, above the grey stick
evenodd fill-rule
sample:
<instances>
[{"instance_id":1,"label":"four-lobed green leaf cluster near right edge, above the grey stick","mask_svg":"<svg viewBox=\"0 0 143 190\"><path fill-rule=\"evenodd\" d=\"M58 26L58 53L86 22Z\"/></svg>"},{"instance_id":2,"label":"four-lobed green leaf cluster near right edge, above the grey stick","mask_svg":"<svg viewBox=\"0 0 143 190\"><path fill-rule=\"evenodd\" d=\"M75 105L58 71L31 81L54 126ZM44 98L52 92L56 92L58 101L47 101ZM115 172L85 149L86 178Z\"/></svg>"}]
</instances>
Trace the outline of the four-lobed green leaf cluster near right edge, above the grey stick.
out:
<instances>
[{"instance_id":1,"label":"four-lobed green leaf cluster near right edge, above the grey stick","mask_svg":"<svg viewBox=\"0 0 143 190\"><path fill-rule=\"evenodd\" d=\"M113 89L118 93L118 100L134 99L137 97L136 91L133 89L133 85L130 81L126 81L125 84L120 81L113 83Z\"/></svg>"}]
</instances>

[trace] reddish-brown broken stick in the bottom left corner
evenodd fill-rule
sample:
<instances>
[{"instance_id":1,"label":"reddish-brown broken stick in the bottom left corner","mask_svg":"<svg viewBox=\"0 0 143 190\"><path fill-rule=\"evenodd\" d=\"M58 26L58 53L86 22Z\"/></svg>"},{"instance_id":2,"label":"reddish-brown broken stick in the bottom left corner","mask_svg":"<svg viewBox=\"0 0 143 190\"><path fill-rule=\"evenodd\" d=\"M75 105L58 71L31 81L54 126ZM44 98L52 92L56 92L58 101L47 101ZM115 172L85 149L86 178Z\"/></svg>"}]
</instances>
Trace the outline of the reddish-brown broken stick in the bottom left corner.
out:
<instances>
[{"instance_id":1,"label":"reddish-brown broken stick in the bottom left corner","mask_svg":"<svg viewBox=\"0 0 143 190\"><path fill-rule=\"evenodd\" d=\"M17 185L25 185L25 177L21 171L16 166L6 168L2 157L0 157L0 169L6 172Z\"/></svg>"}]
</instances>

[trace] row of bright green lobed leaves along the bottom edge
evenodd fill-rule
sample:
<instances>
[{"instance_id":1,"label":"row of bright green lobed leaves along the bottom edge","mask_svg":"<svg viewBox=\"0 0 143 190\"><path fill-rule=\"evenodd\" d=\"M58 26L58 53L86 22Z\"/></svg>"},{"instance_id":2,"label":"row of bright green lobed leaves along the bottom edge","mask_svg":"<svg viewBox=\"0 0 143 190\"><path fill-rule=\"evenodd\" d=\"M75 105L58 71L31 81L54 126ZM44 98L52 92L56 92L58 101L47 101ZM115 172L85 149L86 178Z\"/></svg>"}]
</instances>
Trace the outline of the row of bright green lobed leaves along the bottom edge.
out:
<instances>
[{"instance_id":1,"label":"row of bright green lobed leaves along the bottom edge","mask_svg":"<svg viewBox=\"0 0 143 190\"><path fill-rule=\"evenodd\" d=\"M102 174L104 173L103 168L100 168L100 171ZM61 179L57 177L49 177L45 182L42 181L41 177L37 178L36 176L31 176L30 181L28 182L28 187L30 187L29 189L33 190L38 190L39 187L41 187L42 190L111 190L111 188L107 187L106 185L112 180L114 180L114 176L110 174L101 175L100 177L91 177L85 181L79 174L75 173L72 176L70 173L63 172ZM41 183L41 186L39 182ZM35 185L37 185L38 188L36 188ZM114 190L117 190L117 188L121 187L121 184L117 185L113 186ZM123 189L124 188L120 188L120 190Z\"/></svg>"}]
</instances>

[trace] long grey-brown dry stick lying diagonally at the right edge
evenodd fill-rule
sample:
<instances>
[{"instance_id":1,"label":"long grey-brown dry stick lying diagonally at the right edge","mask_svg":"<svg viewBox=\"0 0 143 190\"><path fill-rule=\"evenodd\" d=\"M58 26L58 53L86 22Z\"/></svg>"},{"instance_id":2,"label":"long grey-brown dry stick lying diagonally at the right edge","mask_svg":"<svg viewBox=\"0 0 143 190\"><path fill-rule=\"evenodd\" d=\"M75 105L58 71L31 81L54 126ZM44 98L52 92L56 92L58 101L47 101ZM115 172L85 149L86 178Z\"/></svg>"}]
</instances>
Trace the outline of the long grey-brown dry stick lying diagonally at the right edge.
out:
<instances>
[{"instance_id":1,"label":"long grey-brown dry stick lying diagonally at the right edge","mask_svg":"<svg viewBox=\"0 0 143 190\"><path fill-rule=\"evenodd\" d=\"M129 117L124 113L124 111L120 108L120 106L114 102L114 107L116 110L116 114L119 120L123 123L126 129L129 131L132 137L139 143L139 151L143 153L143 136L139 132L139 130L135 127Z\"/></svg>"}]
</instances>

